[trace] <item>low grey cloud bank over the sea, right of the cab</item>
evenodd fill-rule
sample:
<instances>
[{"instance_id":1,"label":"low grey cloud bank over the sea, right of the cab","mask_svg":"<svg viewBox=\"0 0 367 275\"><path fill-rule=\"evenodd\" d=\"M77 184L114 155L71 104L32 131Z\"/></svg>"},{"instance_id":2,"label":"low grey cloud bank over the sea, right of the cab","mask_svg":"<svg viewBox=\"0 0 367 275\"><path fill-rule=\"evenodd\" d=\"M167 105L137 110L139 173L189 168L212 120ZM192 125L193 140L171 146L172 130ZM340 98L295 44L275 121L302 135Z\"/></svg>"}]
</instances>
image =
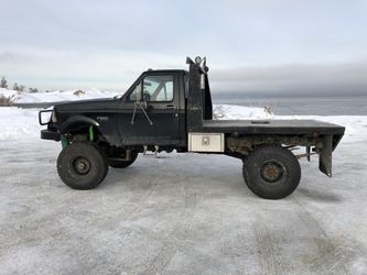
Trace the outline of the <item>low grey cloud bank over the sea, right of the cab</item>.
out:
<instances>
[{"instance_id":1,"label":"low grey cloud bank over the sea, right of the cab","mask_svg":"<svg viewBox=\"0 0 367 275\"><path fill-rule=\"evenodd\" d=\"M367 62L213 69L216 91L274 95L367 95Z\"/></svg>"}]
</instances>

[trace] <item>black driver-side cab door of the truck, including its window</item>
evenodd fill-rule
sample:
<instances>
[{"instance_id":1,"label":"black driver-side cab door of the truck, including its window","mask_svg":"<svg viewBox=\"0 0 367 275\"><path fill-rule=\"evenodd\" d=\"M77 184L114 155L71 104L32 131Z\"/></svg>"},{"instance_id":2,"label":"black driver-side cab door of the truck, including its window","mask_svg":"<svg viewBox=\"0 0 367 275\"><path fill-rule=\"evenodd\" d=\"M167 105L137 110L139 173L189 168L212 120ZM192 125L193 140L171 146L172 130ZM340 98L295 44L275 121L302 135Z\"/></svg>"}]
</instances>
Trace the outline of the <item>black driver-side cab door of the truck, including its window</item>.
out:
<instances>
[{"instance_id":1,"label":"black driver-side cab door of the truck, including its window","mask_svg":"<svg viewBox=\"0 0 367 275\"><path fill-rule=\"evenodd\" d=\"M118 123L123 145L179 145L177 75L149 73L123 99Z\"/></svg>"}]
</instances>

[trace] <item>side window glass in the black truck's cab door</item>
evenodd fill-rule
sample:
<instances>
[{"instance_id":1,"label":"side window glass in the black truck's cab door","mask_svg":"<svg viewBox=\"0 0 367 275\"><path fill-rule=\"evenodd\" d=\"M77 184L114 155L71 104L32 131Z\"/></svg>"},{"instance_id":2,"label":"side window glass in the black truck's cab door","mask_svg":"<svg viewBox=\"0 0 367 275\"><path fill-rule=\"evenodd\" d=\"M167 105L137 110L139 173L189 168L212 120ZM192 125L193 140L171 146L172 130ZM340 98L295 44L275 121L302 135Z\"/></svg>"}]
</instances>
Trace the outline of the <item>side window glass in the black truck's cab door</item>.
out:
<instances>
[{"instance_id":1,"label":"side window glass in the black truck's cab door","mask_svg":"<svg viewBox=\"0 0 367 275\"><path fill-rule=\"evenodd\" d=\"M147 76L143 79L143 100L145 101L172 101L173 76L159 75Z\"/></svg>"}]
</instances>

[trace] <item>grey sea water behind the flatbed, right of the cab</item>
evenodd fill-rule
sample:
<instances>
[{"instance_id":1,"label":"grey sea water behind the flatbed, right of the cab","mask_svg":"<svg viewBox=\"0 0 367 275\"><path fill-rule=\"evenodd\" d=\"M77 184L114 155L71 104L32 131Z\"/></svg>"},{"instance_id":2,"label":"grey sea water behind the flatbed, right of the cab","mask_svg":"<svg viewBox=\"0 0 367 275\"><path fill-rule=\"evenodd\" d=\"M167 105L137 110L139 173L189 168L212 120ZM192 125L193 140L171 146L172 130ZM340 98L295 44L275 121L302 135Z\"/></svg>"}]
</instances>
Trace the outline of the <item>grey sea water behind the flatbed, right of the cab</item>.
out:
<instances>
[{"instance_id":1,"label":"grey sea water behind the flatbed, right of the cab","mask_svg":"<svg viewBox=\"0 0 367 275\"><path fill-rule=\"evenodd\" d=\"M270 107L280 116L367 116L367 95L349 97L247 97L239 94L213 94L214 105Z\"/></svg>"}]
</instances>

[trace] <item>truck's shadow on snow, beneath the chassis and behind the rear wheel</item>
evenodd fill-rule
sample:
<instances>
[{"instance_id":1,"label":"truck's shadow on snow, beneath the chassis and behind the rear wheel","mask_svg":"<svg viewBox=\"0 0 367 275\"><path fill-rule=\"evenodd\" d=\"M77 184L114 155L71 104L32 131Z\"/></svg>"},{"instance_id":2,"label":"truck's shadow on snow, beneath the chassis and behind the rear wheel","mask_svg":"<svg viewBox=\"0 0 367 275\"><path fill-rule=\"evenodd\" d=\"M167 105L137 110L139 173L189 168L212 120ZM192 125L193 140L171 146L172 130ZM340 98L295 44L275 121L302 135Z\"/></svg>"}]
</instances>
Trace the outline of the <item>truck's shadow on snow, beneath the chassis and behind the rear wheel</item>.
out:
<instances>
[{"instance_id":1,"label":"truck's shadow on snow, beneath the chassis and behind the rear wheel","mask_svg":"<svg viewBox=\"0 0 367 275\"><path fill-rule=\"evenodd\" d=\"M203 188L208 188L209 193L216 193L218 196L245 196L245 198L257 198L246 187L241 173L238 172L237 165L228 166L226 173L215 173L216 167L202 166L199 170L193 170L192 164L185 162L180 163L180 157L175 160L179 164L170 164L170 160L162 160L161 163L147 162L134 164L131 167L119 169L110 168L106 180L98 188L126 188L128 190L144 190L147 186L165 186L166 188L177 188L181 185L186 185L192 191L203 191ZM193 160L195 163L195 158ZM166 165L166 167L165 167ZM169 170L169 172L168 172ZM300 184L296 191L289 199L307 199L316 202L342 202L342 197L337 196L332 190L319 190L312 186L302 186ZM320 186L320 183L317 184ZM205 193L205 191L204 191Z\"/></svg>"}]
</instances>

